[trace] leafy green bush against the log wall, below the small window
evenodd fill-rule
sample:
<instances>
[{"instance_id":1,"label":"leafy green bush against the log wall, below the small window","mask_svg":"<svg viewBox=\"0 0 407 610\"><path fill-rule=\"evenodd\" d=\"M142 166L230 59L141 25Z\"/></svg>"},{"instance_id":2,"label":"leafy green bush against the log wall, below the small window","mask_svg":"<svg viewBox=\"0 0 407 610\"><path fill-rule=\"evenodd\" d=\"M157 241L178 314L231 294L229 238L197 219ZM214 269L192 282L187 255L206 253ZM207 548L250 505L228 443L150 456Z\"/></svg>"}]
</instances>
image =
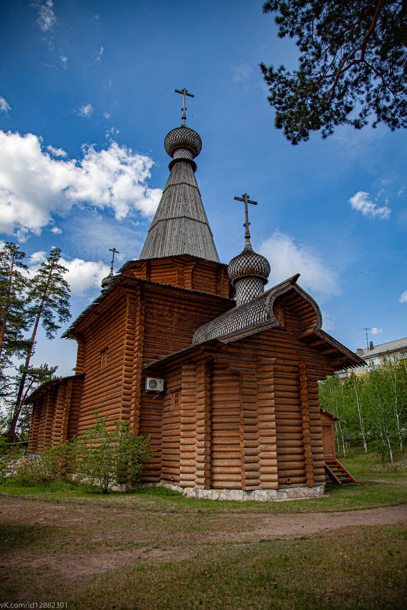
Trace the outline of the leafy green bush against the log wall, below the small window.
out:
<instances>
[{"instance_id":1,"label":"leafy green bush against the log wall, below the small window","mask_svg":"<svg viewBox=\"0 0 407 610\"><path fill-rule=\"evenodd\" d=\"M150 436L134 436L127 423L115 422L107 428L106 420L95 412L96 423L74 442L81 477L100 486L107 493L110 484L137 483L143 462L151 459Z\"/></svg>"}]
</instances>

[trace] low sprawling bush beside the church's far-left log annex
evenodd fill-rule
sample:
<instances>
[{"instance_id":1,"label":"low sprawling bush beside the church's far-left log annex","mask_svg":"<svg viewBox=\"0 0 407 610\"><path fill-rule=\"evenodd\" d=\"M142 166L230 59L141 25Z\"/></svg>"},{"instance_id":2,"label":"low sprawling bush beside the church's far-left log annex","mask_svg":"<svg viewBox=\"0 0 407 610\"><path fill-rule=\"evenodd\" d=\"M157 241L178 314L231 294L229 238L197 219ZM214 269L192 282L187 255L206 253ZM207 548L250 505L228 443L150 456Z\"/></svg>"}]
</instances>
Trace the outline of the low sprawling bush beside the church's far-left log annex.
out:
<instances>
[{"instance_id":1,"label":"low sprawling bush beside the church's far-left log annex","mask_svg":"<svg viewBox=\"0 0 407 610\"><path fill-rule=\"evenodd\" d=\"M70 443L46 448L40 456L21 458L16 464L14 480L22 486L37 486L51 481L68 481L75 468L76 451Z\"/></svg>"}]
</instances>

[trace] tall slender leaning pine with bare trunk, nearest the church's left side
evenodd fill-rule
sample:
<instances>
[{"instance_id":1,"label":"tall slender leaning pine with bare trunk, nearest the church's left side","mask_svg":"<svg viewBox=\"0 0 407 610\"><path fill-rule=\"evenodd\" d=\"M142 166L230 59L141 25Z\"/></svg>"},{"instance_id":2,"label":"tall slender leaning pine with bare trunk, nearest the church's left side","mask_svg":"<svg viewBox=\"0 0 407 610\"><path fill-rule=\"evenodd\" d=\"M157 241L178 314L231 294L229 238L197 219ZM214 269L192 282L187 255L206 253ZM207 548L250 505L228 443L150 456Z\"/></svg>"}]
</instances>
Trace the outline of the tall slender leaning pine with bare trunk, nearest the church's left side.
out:
<instances>
[{"instance_id":1,"label":"tall slender leaning pine with bare trunk, nearest the church's left side","mask_svg":"<svg viewBox=\"0 0 407 610\"><path fill-rule=\"evenodd\" d=\"M6 432L10 439L15 436L16 423L23 406L21 401L29 374L31 356L34 353L38 326L41 323L47 339L54 339L60 325L70 318L70 289L68 282L63 278L63 273L67 271L67 268L59 264L60 256L60 249L52 248L48 258L41 263L41 267L30 282L27 300L30 303L29 319L32 332L27 342L26 359L21 367L13 414ZM56 317L59 324L55 321Z\"/></svg>"}]
</instances>

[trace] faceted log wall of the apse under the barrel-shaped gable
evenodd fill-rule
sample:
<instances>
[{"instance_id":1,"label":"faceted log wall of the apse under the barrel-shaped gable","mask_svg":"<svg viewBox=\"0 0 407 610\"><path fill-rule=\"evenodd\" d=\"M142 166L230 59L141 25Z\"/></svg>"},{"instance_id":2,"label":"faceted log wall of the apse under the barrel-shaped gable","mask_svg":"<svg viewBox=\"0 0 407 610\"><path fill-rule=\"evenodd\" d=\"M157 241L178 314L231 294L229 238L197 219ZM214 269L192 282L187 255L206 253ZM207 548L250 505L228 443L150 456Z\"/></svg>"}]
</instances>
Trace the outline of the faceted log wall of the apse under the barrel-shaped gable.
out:
<instances>
[{"instance_id":1,"label":"faceted log wall of the apse under the barrel-shaped gable","mask_svg":"<svg viewBox=\"0 0 407 610\"><path fill-rule=\"evenodd\" d=\"M148 373L165 384L170 379L171 387L181 373L179 414L171 412L167 390L162 403L160 479L178 479L179 422L181 486L250 490L324 483L317 381L333 370L328 356L297 339L305 319L315 323L309 304L301 309L304 299L294 291L276 302L283 327L207 346L206 355L197 349L195 359L189 354L183 363L180 354ZM158 421L157 412L159 427Z\"/></svg>"}]
</instances>

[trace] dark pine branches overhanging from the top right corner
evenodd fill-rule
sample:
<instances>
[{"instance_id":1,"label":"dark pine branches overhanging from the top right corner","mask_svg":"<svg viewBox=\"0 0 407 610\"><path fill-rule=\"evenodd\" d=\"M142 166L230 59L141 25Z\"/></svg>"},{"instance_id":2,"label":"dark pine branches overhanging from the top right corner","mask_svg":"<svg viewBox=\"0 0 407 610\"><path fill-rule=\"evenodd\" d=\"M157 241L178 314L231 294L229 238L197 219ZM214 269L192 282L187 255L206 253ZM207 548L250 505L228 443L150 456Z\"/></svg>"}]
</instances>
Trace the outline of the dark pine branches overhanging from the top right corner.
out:
<instances>
[{"instance_id":1,"label":"dark pine branches overhanging from the top right corner","mask_svg":"<svg viewBox=\"0 0 407 610\"><path fill-rule=\"evenodd\" d=\"M294 38L298 70L261 63L276 109L275 126L292 144L334 127L383 122L407 127L405 2L389 0L267 0L278 36Z\"/></svg>"}]
</instances>

